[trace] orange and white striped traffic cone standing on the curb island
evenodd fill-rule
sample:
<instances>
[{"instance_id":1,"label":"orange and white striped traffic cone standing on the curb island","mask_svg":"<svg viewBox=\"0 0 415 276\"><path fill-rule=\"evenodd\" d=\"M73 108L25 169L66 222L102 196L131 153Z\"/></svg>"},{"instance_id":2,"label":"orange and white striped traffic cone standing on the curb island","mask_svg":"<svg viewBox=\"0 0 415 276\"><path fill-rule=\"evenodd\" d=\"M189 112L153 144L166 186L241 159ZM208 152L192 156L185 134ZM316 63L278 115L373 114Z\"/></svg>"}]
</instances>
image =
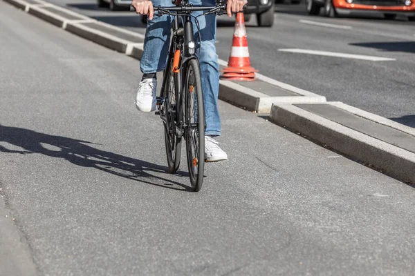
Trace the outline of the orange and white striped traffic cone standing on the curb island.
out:
<instances>
[{"instance_id":1,"label":"orange and white striped traffic cone standing on the curb island","mask_svg":"<svg viewBox=\"0 0 415 276\"><path fill-rule=\"evenodd\" d=\"M250 65L243 12L237 12L228 67L221 72L223 72L221 79L237 81L253 81L255 80L255 72L258 72Z\"/></svg>"}]
</instances>

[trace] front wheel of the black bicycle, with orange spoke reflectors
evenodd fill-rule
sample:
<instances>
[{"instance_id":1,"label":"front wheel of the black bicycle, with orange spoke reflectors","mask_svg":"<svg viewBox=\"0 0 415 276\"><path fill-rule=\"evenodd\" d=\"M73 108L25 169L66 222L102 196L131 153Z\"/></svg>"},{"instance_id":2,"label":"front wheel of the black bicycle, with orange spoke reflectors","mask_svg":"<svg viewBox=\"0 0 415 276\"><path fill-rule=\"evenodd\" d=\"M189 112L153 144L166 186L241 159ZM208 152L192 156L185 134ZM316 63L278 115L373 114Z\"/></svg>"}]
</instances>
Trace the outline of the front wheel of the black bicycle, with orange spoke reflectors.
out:
<instances>
[{"instance_id":1,"label":"front wheel of the black bicycle, with orange spoke reflectors","mask_svg":"<svg viewBox=\"0 0 415 276\"><path fill-rule=\"evenodd\" d=\"M203 106L201 72L199 62L187 63L185 79L185 140L187 167L194 191L202 188L205 168L205 110Z\"/></svg>"}]
</instances>

